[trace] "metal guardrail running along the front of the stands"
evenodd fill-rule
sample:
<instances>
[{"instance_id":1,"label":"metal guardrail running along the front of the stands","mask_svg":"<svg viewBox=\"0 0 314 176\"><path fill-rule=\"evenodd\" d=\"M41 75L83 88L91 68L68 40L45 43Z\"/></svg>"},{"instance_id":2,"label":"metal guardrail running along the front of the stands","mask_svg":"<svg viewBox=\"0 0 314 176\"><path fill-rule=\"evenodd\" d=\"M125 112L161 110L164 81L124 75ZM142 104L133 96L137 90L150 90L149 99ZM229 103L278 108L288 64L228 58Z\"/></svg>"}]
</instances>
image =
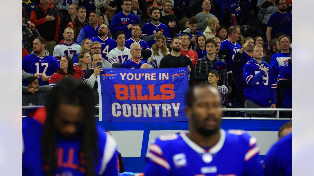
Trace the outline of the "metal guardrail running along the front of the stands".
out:
<instances>
[{"instance_id":1,"label":"metal guardrail running along the front of the stands","mask_svg":"<svg viewBox=\"0 0 314 176\"><path fill-rule=\"evenodd\" d=\"M22 106L22 109L31 109L38 108L44 106ZM99 106L95 106L96 109L99 109ZM222 119L247 119L247 120L291 120L291 118L279 118L279 112L291 112L292 109L282 109L282 108L221 108L223 111L276 111L276 117L222 117ZM26 116L22 116L26 117ZM95 118L99 118L98 115L94 116Z\"/></svg>"}]
</instances>

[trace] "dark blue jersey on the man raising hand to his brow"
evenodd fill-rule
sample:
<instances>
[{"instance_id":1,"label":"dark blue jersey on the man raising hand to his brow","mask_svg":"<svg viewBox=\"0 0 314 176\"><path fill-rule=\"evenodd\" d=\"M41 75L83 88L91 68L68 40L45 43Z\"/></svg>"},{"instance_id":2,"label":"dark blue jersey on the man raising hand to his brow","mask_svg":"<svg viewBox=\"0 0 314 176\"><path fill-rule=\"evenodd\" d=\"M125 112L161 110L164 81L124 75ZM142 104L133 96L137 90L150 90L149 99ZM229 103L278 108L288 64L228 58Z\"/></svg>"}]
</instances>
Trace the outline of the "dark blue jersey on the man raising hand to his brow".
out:
<instances>
[{"instance_id":1,"label":"dark blue jersey on the man raising hand to his brow","mask_svg":"<svg viewBox=\"0 0 314 176\"><path fill-rule=\"evenodd\" d=\"M252 55L248 54L244 50L241 55L240 60L237 62L233 60L233 56L232 56L232 60L230 61L230 66L231 66L233 77L235 78L235 81L236 81L236 90L244 91L245 88L247 87L247 84L243 80L243 67L246 63L248 63L251 60Z\"/></svg>"}]
</instances>

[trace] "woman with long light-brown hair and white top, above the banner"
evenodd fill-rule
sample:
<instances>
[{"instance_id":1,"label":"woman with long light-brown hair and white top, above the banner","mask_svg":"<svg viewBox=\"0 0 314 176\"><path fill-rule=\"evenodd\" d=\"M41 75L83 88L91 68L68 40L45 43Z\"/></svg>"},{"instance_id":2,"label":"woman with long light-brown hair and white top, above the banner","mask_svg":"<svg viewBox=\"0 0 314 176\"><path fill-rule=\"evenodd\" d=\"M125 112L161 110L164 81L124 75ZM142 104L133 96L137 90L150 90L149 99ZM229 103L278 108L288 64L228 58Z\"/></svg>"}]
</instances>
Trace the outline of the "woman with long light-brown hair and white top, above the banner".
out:
<instances>
[{"instance_id":1,"label":"woman with long light-brown hair and white top, above the banner","mask_svg":"<svg viewBox=\"0 0 314 176\"><path fill-rule=\"evenodd\" d=\"M160 60L166 55L170 54L169 49L166 46L166 38L164 35L159 35L156 37L156 43L153 44L152 56L148 58L147 62L153 64L155 60L157 61L157 67L159 68Z\"/></svg>"}]
</instances>

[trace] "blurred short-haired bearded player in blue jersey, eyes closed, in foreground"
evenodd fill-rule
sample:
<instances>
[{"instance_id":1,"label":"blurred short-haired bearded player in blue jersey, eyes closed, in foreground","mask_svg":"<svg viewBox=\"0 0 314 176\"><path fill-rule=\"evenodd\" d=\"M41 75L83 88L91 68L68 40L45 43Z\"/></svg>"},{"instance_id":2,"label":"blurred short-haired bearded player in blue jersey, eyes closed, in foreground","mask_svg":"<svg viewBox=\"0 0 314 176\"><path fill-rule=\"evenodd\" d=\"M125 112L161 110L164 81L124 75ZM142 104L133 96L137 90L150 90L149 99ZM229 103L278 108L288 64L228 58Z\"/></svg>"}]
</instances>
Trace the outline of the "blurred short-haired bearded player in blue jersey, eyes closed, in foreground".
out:
<instances>
[{"instance_id":1,"label":"blurred short-haired bearded player in blue jersey, eyes closed, in foreground","mask_svg":"<svg viewBox=\"0 0 314 176\"><path fill-rule=\"evenodd\" d=\"M263 175L256 138L220 129L216 88L193 86L186 95L189 132L161 135L149 145L145 176Z\"/></svg>"}]
</instances>

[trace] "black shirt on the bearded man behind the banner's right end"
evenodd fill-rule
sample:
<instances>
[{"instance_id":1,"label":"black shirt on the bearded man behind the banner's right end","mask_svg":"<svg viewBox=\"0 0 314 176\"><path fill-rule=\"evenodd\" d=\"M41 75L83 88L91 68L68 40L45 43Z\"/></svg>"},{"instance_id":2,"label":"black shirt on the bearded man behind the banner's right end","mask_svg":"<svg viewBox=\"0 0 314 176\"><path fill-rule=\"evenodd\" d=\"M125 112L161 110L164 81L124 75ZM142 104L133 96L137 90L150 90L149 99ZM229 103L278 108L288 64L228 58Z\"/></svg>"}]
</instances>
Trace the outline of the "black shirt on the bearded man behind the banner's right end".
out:
<instances>
[{"instance_id":1,"label":"black shirt on the bearded man behind the banner's right end","mask_svg":"<svg viewBox=\"0 0 314 176\"><path fill-rule=\"evenodd\" d=\"M187 56L180 54L180 56L176 57L168 54L160 60L159 68L178 68L186 67L187 65L190 65L190 68L192 69L189 80L189 85L191 85L194 80L194 68L192 61Z\"/></svg>"}]
</instances>

